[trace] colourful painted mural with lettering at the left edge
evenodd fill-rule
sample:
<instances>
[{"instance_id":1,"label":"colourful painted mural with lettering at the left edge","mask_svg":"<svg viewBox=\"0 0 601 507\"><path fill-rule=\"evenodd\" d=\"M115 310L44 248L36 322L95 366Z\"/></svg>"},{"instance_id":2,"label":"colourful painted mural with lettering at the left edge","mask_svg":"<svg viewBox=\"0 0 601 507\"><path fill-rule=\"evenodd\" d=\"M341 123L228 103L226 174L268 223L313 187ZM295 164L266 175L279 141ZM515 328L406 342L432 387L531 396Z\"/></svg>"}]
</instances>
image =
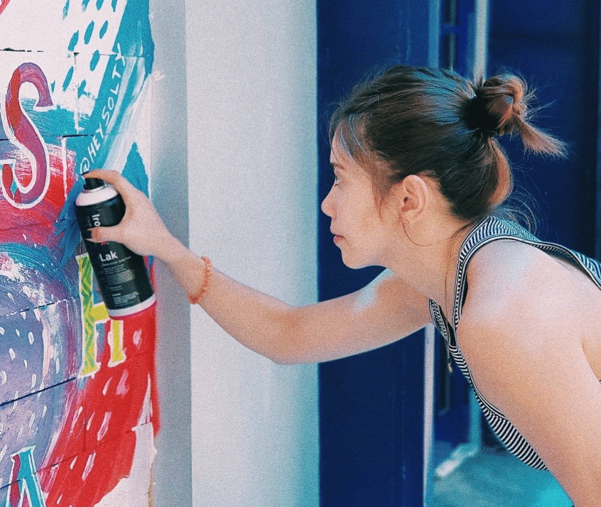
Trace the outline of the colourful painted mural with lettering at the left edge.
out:
<instances>
[{"instance_id":1,"label":"colourful painted mural with lettering at the left edge","mask_svg":"<svg viewBox=\"0 0 601 507\"><path fill-rule=\"evenodd\" d=\"M148 0L0 0L0 507L148 506L155 308L110 320L73 214L148 192Z\"/></svg>"}]
</instances>

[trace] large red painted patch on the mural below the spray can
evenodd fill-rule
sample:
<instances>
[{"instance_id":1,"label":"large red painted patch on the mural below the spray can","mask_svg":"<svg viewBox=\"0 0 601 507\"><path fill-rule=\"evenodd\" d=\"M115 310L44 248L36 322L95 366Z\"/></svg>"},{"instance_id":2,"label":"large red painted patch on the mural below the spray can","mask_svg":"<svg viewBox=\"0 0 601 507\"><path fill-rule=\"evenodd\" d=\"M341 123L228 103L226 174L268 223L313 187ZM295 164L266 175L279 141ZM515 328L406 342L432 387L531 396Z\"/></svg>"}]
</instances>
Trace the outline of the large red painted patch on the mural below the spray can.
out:
<instances>
[{"instance_id":1,"label":"large red painted patch on the mural below the spray can","mask_svg":"<svg viewBox=\"0 0 601 507\"><path fill-rule=\"evenodd\" d=\"M126 361L109 366L111 351L107 335L110 327L105 326L100 370L93 377L80 379L85 382L85 387L77 403L67 407L65 426L45 464L50 468L40 472L41 487L48 492L48 506L93 507L117 486L120 479L129 475L136 445L136 434L131 430L152 423L155 435L158 432L155 307L122 322ZM151 415L141 419L148 380ZM77 413L85 415L77 418ZM107 413L110 413L108 423ZM70 425L76 418L76 427L72 430ZM72 437L72 431L77 432L82 426L85 432L83 454L77 447L77 439ZM52 467L54 464L57 465ZM58 503L59 499L62 503Z\"/></svg>"}]
</instances>

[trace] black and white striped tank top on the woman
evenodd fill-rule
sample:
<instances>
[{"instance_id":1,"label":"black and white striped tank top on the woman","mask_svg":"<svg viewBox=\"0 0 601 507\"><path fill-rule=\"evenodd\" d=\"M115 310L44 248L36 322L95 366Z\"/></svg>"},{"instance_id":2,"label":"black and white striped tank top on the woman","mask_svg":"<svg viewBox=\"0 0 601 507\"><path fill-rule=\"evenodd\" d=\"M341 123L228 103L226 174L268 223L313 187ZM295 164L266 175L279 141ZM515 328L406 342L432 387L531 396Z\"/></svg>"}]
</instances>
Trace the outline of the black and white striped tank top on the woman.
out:
<instances>
[{"instance_id":1,"label":"black and white striped tank top on the woman","mask_svg":"<svg viewBox=\"0 0 601 507\"><path fill-rule=\"evenodd\" d=\"M516 427L507 420L499 409L494 407L494 405L489 403L484 396L480 394L474 383L470 369L467 364L465 364L465 359L457 345L457 340L455 339L462 306L467 295L467 265L478 249L497 239L514 239L516 241L521 241L522 243L536 246L536 248L546 251L548 254L563 257L576 266L579 266L585 273L588 273L588 276L590 276L600 289L601 264L578 252L566 249L561 245L539 241L536 237L526 231L526 229L514 222L488 216L476 224L474 229L467 234L460 247L459 257L457 259L457 280L455 283L452 322L448 322L443 315L443 309L433 300L430 300L430 314L434 325L443 335L450 356L455 359L457 366L459 366L460 370L465 375L465 378L467 378L467 381L474 389L478 404L480 405L480 408L482 408L484 417L487 419L495 435L497 435L504 447L522 462L534 469L546 470L546 466L542 459L538 457L538 454L536 454L531 445L526 442L526 439L524 439L520 432L516 430Z\"/></svg>"}]
</instances>

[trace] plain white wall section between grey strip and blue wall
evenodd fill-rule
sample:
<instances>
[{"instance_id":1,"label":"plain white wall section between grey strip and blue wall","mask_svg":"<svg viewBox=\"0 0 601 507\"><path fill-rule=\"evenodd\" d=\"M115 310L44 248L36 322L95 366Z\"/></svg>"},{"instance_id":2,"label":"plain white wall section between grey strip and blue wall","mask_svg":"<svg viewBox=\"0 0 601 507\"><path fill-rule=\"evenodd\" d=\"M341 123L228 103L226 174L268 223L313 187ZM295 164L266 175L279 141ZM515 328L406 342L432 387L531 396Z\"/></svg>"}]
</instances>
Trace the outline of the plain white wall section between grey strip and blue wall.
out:
<instances>
[{"instance_id":1,"label":"plain white wall section between grey strip and blue wall","mask_svg":"<svg viewBox=\"0 0 601 507\"><path fill-rule=\"evenodd\" d=\"M187 1L190 245L293 303L316 299L315 5ZM193 506L318 505L317 369L276 366L200 309Z\"/></svg>"}]
</instances>

